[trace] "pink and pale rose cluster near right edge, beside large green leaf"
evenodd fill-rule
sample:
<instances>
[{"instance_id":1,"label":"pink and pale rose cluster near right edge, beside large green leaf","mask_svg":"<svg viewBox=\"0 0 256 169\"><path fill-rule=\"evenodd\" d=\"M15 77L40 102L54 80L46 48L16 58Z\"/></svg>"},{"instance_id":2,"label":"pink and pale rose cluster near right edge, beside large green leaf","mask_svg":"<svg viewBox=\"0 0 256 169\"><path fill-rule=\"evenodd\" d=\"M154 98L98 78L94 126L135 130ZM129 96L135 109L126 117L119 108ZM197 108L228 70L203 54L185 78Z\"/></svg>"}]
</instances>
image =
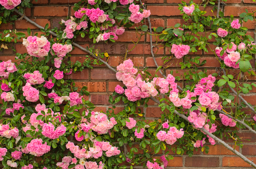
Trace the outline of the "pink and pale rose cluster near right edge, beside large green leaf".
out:
<instances>
[{"instance_id":1,"label":"pink and pale rose cluster near right edge, beside large green leaf","mask_svg":"<svg viewBox=\"0 0 256 169\"><path fill-rule=\"evenodd\" d=\"M224 50L224 54L221 56L220 52L223 50L221 47L216 47L215 48L215 53L218 57L220 57L221 60L224 60L224 63L228 66L228 67L232 67L232 68L239 68L239 63L236 64L236 62L240 59L240 53L235 51L237 46L231 42L232 47L231 48L227 48L226 50ZM241 43L238 45L238 49L243 50L245 49L245 44Z\"/></svg>"}]
</instances>

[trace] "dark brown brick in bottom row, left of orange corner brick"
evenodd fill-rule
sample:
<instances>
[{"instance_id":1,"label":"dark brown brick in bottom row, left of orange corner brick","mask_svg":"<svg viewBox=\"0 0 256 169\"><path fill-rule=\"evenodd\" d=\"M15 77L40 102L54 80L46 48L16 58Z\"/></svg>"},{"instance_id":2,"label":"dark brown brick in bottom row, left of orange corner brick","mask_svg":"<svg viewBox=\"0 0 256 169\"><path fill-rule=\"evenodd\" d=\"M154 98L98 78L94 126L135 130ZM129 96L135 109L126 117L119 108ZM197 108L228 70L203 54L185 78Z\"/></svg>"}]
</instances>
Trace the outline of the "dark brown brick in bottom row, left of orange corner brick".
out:
<instances>
[{"instance_id":1,"label":"dark brown brick in bottom row, left of orange corner brick","mask_svg":"<svg viewBox=\"0 0 256 169\"><path fill-rule=\"evenodd\" d=\"M185 167L219 167L219 157L186 157Z\"/></svg>"}]
</instances>

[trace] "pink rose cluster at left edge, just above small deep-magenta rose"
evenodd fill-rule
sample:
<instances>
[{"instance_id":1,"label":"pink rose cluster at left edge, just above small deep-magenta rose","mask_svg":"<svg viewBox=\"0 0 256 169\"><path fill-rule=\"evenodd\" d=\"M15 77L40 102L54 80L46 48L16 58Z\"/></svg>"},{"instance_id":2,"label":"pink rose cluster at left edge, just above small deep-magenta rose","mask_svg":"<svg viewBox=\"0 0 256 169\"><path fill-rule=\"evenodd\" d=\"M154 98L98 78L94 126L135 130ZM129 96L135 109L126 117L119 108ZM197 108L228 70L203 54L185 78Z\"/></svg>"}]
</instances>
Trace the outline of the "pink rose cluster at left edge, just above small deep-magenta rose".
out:
<instances>
[{"instance_id":1,"label":"pink rose cluster at left edge, just above small deep-magenta rose","mask_svg":"<svg viewBox=\"0 0 256 169\"><path fill-rule=\"evenodd\" d=\"M4 77L4 79L8 79L9 74L16 72L17 68L11 60L3 61L0 63L0 76ZM7 92L7 91L5 91Z\"/></svg>"}]
</instances>

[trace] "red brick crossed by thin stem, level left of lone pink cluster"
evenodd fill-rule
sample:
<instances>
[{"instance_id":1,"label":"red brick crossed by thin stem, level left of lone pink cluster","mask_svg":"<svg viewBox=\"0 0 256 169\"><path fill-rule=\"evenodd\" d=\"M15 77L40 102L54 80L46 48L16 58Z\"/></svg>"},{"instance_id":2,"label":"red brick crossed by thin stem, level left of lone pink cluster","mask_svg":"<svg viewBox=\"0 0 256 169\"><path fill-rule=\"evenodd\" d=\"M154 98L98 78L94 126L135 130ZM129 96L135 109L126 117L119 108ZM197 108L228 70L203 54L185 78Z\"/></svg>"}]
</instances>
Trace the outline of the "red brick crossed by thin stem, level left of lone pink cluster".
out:
<instances>
[{"instance_id":1,"label":"red brick crossed by thin stem, level left of lone pink cluster","mask_svg":"<svg viewBox=\"0 0 256 169\"><path fill-rule=\"evenodd\" d=\"M129 44L128 49L131 50L133 48L134 44ZM153 47L153 52L155 55L164 55L164 46L163 45L158 45L158 50L157 47ZM156 53L157 52L157 53ZM118 54L118 53L117 53ZM137 44L132 51L128 53L129 55L150 55L151 50L150 50L150 45L149 44Z\"/></svg>"}]
</instances>

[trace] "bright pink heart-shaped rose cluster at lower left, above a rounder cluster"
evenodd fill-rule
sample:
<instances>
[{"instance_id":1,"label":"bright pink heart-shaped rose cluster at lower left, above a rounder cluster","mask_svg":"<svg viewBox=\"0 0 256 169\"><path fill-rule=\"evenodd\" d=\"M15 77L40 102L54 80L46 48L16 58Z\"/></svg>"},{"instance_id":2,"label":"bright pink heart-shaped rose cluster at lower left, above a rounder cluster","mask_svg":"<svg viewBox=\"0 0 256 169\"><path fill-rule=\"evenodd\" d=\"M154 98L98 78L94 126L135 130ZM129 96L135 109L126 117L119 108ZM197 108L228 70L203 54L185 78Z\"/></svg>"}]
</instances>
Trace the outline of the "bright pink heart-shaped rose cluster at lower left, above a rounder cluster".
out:
<instances>
[{"instance_id":1,"label":"bright pink heart-shaped rose cluster at lower left, above a rounder cluster","mask_svg":"<svg viewBox=\"0 0 256 169\"><path fill-rule=\"evenodd\" d=\"M44 123L43 128L42 128L42 134L45 137L51 138L51 139L56 139L59 138L59 136L62 136L66 132L66 127L62 124L61 126L58 126L57 129L55 130L55 127L52 123L49 122L49 124Z\"/></svg>"}]
</instances>

